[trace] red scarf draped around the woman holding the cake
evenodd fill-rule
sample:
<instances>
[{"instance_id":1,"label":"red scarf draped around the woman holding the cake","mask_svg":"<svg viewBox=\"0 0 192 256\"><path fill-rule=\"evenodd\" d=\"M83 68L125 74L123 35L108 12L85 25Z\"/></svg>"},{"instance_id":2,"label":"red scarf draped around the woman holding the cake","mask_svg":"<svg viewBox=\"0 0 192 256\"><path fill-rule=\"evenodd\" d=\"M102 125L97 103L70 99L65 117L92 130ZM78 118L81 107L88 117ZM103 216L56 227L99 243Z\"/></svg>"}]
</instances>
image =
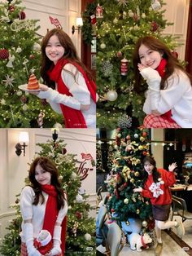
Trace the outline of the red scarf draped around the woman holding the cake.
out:
<instances>
[{"instance_id":1,"label":"red scarf draped around the woman holding the cake","mask_svg":"<svg viewBox=\"0 0 192 256\"><path fill-rule=\"evenodd\" d=\"M51 68L48 71L50 80L55 81L57 83L59 93L63 95L72 96L72 94L68 90L68 87L64 84L63 79L61 77L62 69L64 65L68 63L73 64L82 73L83 77L85 78L85 82L90 92L90 95L92 99L94 99L94 102L96 102L96 84L88 79L85 70L81 67L81 65L63 58L57 62L54 68ZM69 108L63 104L60 104L60 107L63 112L66 128L87 128L85 118L83 117L81 110Z\"/></svg>"}]
</instances>

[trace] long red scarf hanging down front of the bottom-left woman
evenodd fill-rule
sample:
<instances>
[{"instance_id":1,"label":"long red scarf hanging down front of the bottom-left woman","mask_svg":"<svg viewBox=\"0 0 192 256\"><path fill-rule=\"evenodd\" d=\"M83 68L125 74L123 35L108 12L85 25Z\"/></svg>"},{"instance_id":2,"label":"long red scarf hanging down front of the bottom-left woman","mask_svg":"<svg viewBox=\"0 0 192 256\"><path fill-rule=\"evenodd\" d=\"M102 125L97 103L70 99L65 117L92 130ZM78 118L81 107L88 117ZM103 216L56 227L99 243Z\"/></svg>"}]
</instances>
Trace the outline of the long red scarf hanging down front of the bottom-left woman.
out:
<instances>
[{"instance_id":1,"label":"long red scarf hanging down front of the bottom-left woman","mask_svg":"<svg viewBox=\"0 0 192 256\"><path fill-rule=\"evenodd\" d=\"M44 217L44 223L42 229L46 229L50 232L50 235L53 237L54 227L58 217L58 209L57 209L57 192L55 187L52 185L41 185L41 189L43 192L48 194L48 200L46 202L46 213ZM65 251L65 236L67 231L67 216L63 218L63 222L61 224L61 249L62 254L64 255Z\"/></svg>"}]
</instances>

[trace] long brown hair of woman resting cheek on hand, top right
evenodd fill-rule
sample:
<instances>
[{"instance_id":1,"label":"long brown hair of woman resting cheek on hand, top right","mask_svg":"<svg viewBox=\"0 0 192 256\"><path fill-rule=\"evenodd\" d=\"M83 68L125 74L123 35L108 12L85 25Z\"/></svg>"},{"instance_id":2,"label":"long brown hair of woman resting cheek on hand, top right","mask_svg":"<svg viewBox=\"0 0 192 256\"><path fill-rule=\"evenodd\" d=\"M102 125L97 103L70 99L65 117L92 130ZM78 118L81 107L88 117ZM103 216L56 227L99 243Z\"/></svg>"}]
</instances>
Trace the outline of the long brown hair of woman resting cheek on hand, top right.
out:
<instances>
[{"instance_id":1,"label":"long brown hair of woman resting cheek on hand, top right","mask_svg":"<svg viewBox=\"0 0 192 256\"><path fill-rule=\"evenodd\" d=\"M164 90L167 88L168 77L172 75L175 68L178 68L182 72L184 72L190 78L190 82L192 83L192 77L190 76L189 73L185 71L183 66L172 55L172 52L169 50L168 46L166 46L164 42L160 41L157 38L154 38L152 36L146 36L138 39L133 51L133 71L134 71L134 79L135 79L134 89L137 91L137 93L142 92L142 87L141 87L142 77L137 67L137 64L141 63L141 60L138 55L138 50L142 44L153 51L159 51L159 53L163 53L163 58L167 60L164 77L161 78L161 83L160 83L161 90Z\"/></svg>"}]
</instances>

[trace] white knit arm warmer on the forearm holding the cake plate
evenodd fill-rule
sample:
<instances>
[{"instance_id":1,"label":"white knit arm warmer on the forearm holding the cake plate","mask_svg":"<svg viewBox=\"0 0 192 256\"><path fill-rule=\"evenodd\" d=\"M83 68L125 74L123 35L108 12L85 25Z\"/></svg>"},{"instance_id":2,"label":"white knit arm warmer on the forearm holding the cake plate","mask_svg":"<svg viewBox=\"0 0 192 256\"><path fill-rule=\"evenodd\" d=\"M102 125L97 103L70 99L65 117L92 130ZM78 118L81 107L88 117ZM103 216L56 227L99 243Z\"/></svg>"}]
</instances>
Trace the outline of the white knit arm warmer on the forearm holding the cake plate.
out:
<instances>
[{"instance_id":1,"label":"white knit arm warmer on the forearm holding the cake plate","mask_svg":"<svg viewBox=\"0 0 192 256\"><path fill-rule=\"evenodd\" d=\"M74 108L77 110L80 110L81 107L80 102L74 97L60 94L57 90L53 90L52 88L49 88L46 91L41 90L37 97L40 99L47 99L50 105L53 102L55 104L63 104L65 106L68 106L69 108Z\"/></svg>"}]
</instances>

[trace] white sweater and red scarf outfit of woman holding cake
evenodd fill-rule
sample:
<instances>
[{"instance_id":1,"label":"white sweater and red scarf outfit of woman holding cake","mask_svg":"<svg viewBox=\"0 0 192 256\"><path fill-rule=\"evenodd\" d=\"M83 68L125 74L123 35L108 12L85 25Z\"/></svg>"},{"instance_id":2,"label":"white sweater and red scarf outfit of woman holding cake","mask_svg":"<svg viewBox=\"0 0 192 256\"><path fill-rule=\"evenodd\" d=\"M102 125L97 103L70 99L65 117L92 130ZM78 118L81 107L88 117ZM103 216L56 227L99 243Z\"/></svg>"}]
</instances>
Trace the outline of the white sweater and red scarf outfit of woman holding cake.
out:
<instances>
[{"instance_id":1,"label":"white sweater and red scarf outfit of woman holding cake","mask_svg":"<svg viewBox=\"0 0 192 256\"><path fill-rule=\"evenodd\" d=\"M37 97L47 99L56 113L63 113L66 128L95 128L96 85L84 69L62 58L48 74L56 90L40 91ZM89 110L81 111L81 104L89 104Z\"/></svg>"}]
</instances>

